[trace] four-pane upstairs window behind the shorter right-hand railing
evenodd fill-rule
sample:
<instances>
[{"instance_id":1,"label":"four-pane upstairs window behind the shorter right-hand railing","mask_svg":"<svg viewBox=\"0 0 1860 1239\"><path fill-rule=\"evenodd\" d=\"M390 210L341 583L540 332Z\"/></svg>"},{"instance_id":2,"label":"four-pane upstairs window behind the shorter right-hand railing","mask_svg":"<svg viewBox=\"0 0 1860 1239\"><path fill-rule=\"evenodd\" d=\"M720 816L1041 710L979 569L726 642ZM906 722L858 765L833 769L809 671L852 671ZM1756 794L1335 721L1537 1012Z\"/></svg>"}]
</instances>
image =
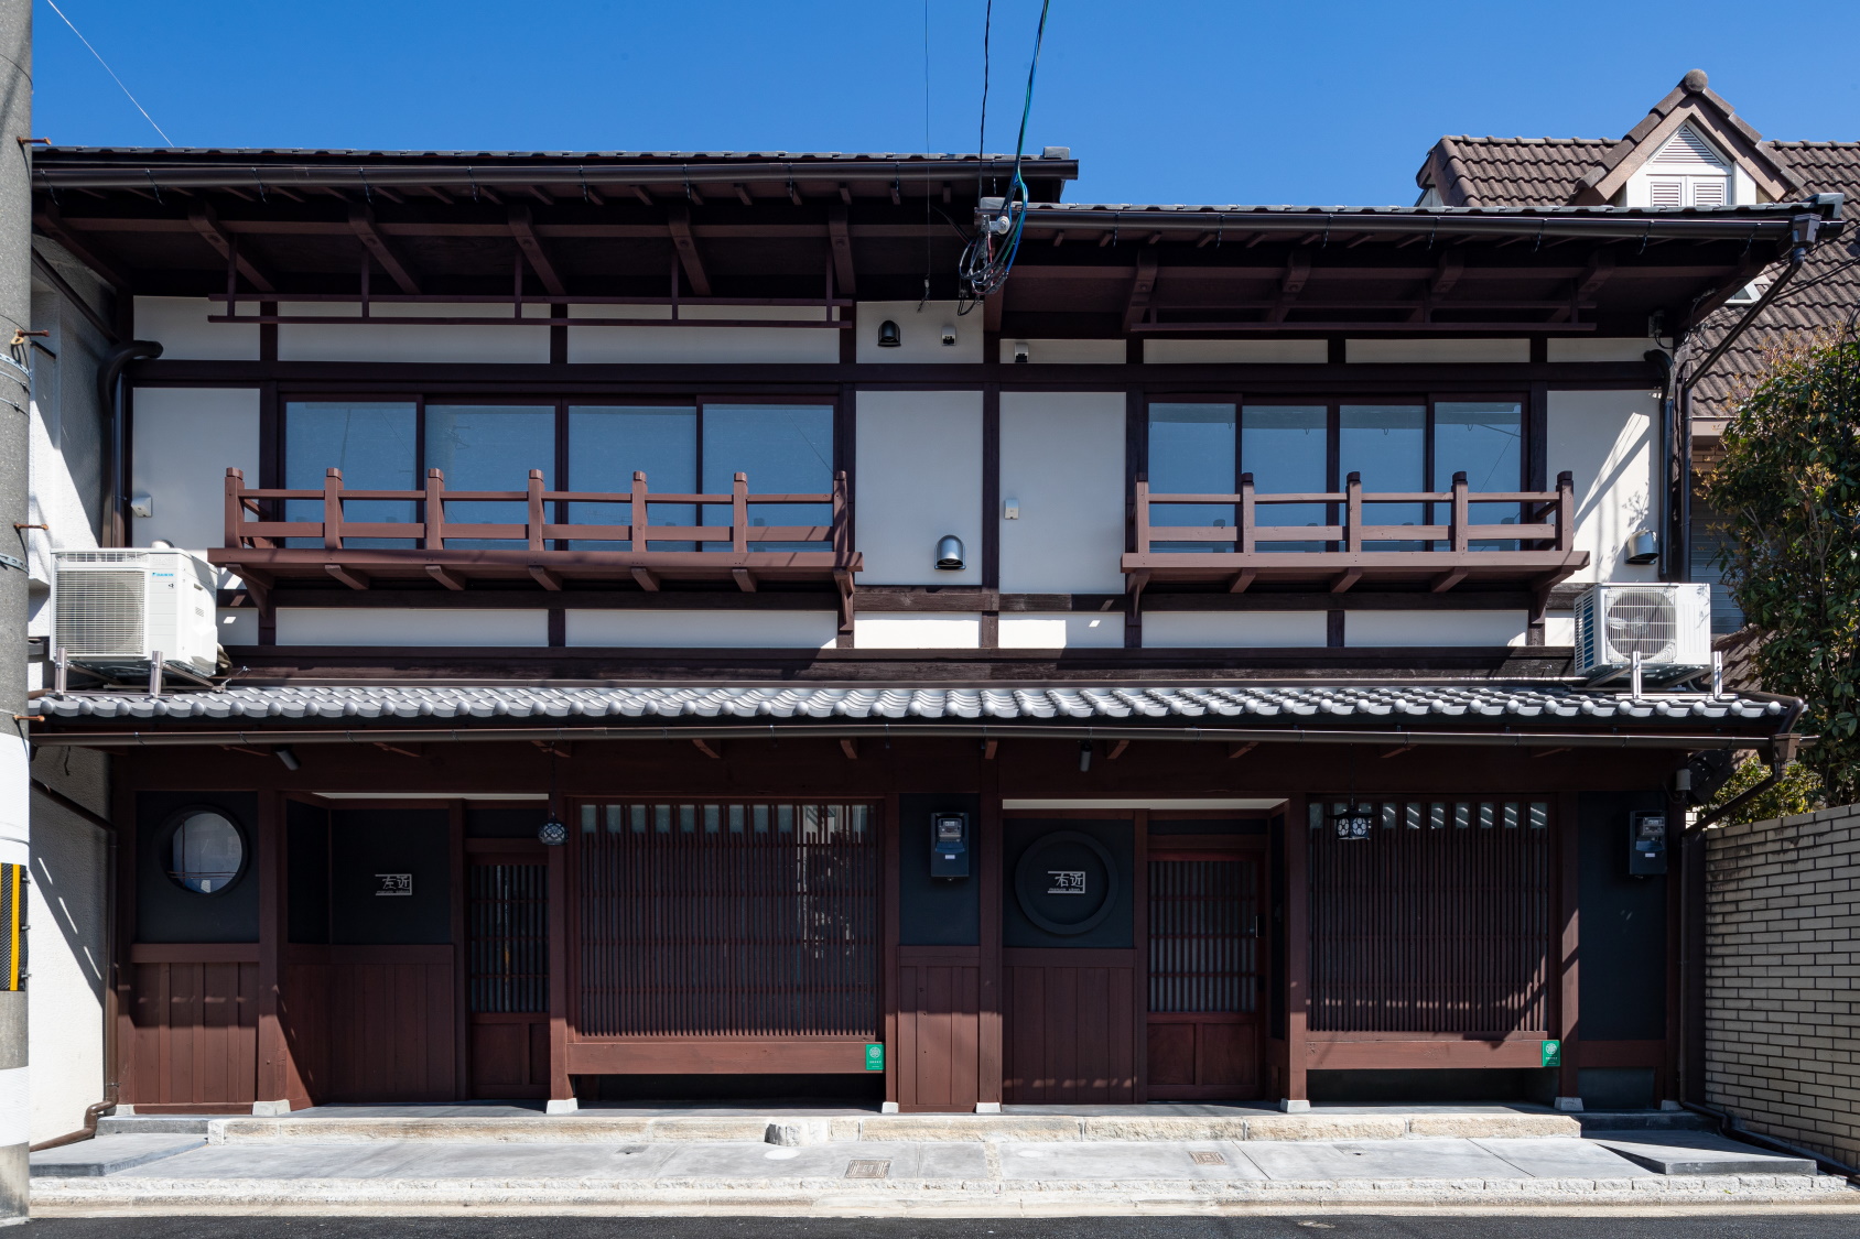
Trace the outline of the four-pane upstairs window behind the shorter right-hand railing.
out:
<instances>
[{"instance_id":1,"label":"four-pane upstairs window behind the shorter right-hand railing","mask_svg":"<svg viewBox=\"0 0 1860 1239\"><path fill-rule=\"evenodd\" d=\"M1365 495L1445 491L1464 473L1468 489L1523 487L1523 404L1520 400L1259 400L1155 402L1149 406L1151 493L1233 495L1242 473L1256 495L1332 495L1348 474ZM1334 523L1328 500L1259 504L1261 551L1322 551L1300 528ZM1365 502L1371 525L1428 525L1432 504ZM1475 523L1518 521L1516 502L1471 504ZM1443 519L1443 517L1442 517ZM1233 526L1233 504L1166 504L1157 526ZM1220 551L1215 543L1153 543L1157 551ZM1369 543L1373 551L1419 543Z\"/></svg>"}]
</instances>

